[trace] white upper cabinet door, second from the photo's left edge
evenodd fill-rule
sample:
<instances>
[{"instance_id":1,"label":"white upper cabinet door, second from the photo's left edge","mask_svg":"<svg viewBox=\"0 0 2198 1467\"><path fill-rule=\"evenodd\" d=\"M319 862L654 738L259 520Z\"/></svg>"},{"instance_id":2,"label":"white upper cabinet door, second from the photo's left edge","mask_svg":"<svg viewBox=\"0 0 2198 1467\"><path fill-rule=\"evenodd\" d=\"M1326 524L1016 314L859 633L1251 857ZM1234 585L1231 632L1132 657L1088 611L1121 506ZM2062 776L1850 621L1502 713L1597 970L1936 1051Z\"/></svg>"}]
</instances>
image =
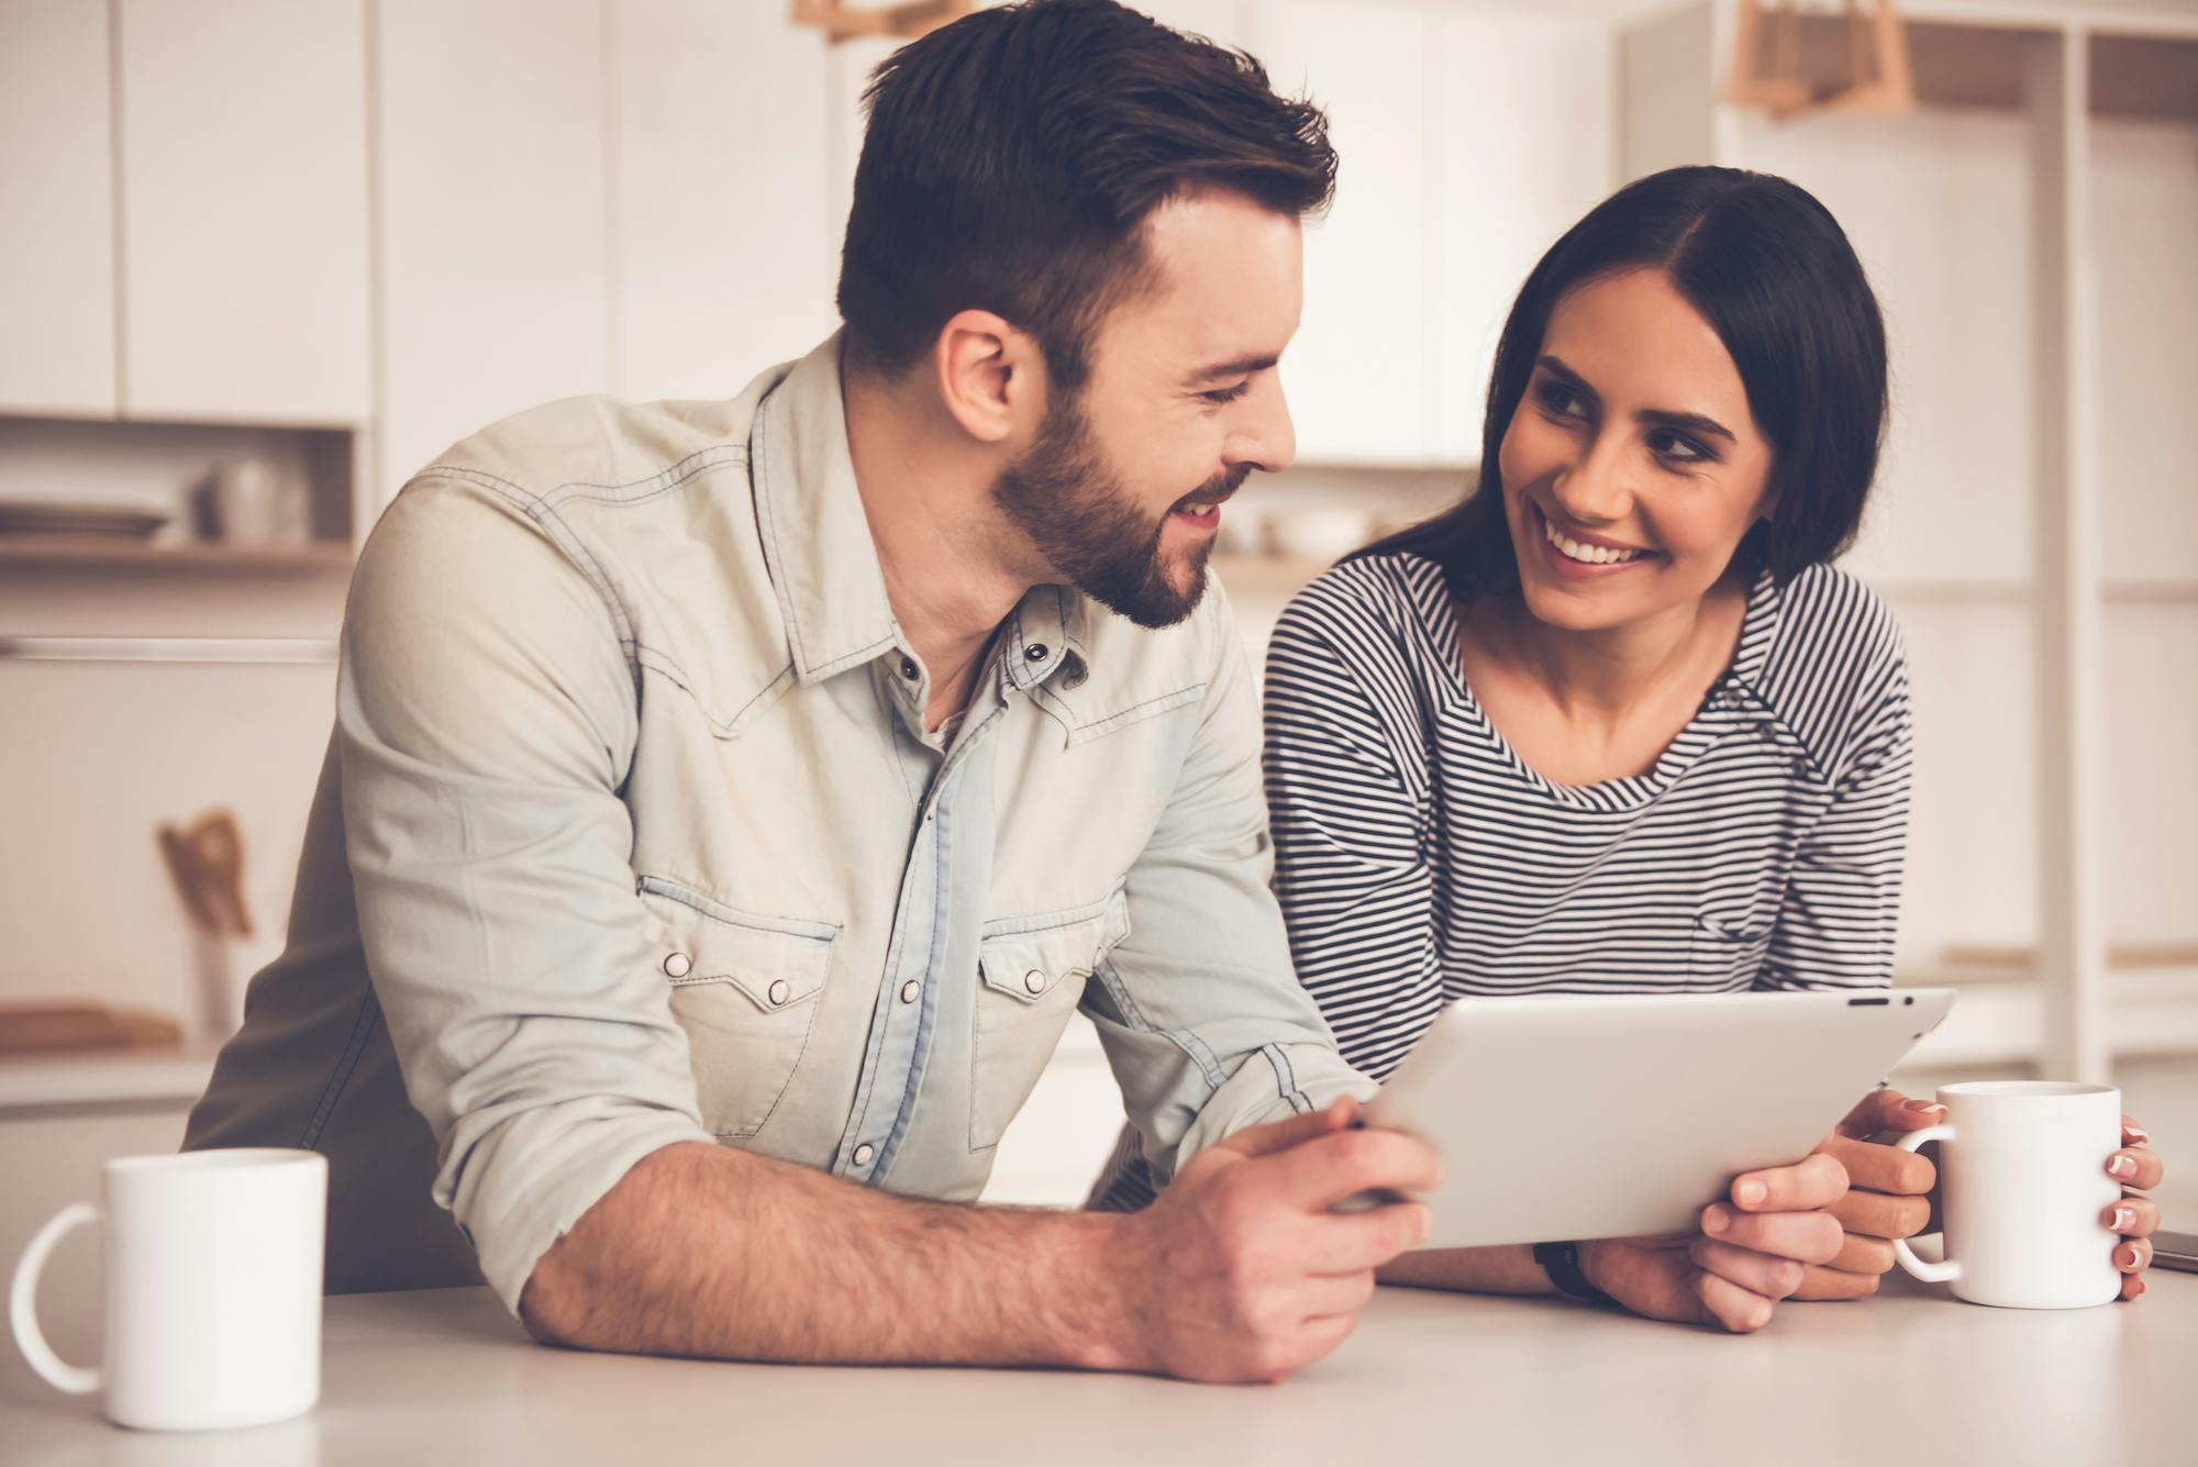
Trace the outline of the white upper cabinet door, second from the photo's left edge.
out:
<instances>
[{"instance_id":1,"label":"white upper cabinet door, second from the photo's left edge","mask_svg":"<svg viewBox=\"0 0 2198 1467\"><path fill-rule=\"evenodd\" d=\"M121 0L123 408L371 413L363 0Z\"/></svg>"}]
</instances>

